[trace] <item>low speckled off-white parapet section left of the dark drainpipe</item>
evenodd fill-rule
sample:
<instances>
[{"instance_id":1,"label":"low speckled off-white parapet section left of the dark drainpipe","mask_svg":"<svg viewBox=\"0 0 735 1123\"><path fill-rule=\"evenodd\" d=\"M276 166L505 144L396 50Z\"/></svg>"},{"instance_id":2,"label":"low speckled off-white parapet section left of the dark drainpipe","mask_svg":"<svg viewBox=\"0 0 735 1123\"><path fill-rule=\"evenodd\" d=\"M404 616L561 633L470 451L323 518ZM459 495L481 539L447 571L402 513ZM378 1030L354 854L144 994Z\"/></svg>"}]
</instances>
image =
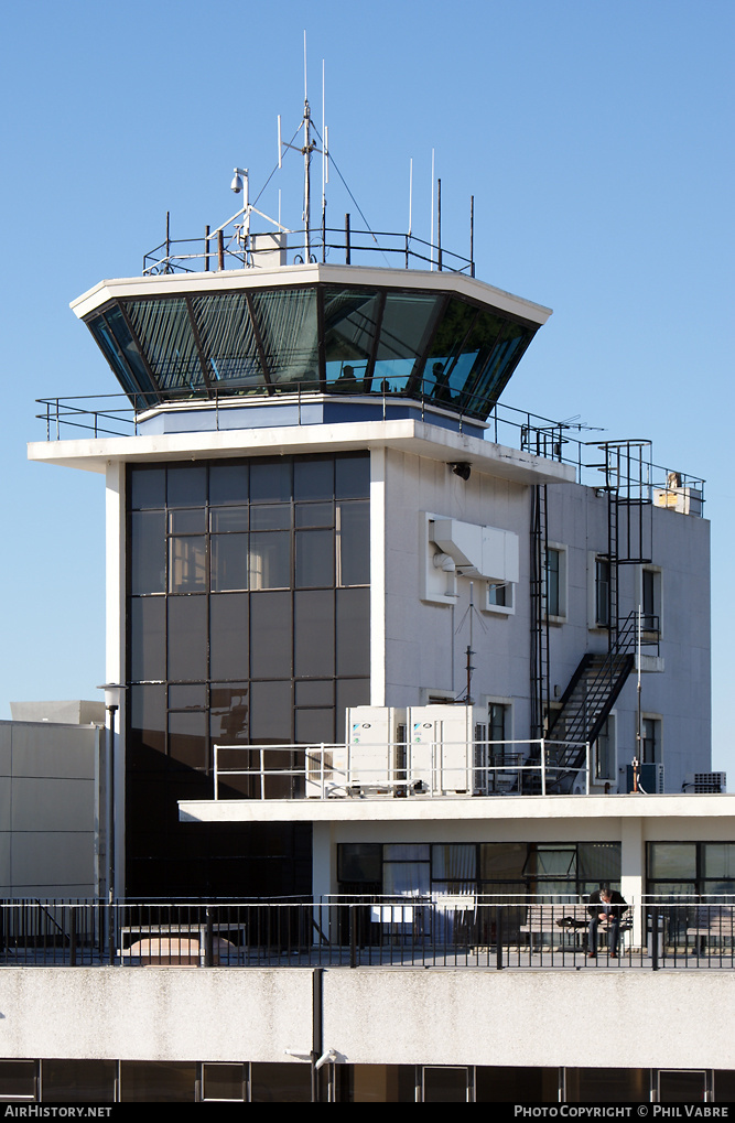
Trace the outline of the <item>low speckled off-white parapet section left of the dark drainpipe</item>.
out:
<instances>
[{"instance_id":1,"label":"low speckled off-white parapet section left of the dark drainpipe","mask_svg":"<svg viewBox=\"0 0 735 1123\"><path fill-rule=\"evenodd\" d=\"M312 973L186 967L0 971L0 1056L288 1061L311 1049Z\"/></svg>"}]
</instances>

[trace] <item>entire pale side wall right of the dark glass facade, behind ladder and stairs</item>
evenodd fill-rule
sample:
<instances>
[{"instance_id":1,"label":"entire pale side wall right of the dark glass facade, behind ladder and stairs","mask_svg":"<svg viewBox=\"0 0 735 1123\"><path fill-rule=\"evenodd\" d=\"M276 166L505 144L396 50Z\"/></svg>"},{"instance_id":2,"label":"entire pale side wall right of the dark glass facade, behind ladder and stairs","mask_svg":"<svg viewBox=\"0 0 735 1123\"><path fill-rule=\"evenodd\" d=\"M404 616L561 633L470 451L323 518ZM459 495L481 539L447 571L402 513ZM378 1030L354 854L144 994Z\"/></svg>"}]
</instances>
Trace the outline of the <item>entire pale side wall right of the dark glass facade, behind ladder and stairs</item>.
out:
<instances>
[{"instance_id":1,"label":"entire pale side wall right of the dark glass facade, behind ladder and stairs","mask_svg":"<svg viewBox=\"0 0 735 1123\"><path fill-rule=\"evenodd\" d=\"M472 636L476 667L472 695L513 700L513 736L530 736L531 489L499 478L493 462L475 465L468 481L448 463L405 450L385 451L385 703L425 702L429 693L462 696L469 643L470 578L457 579L454 605L422 601L426 547L420 512L431 512L512 531L520 539L521 577L515 611L481 611L483 583L475 579L479 610ZM623 517L622 517L623 518ZM375 520L383 512L375 512ZM662 719L665 789L681 791L688 774L710 768L709 524L693 515L647 508L646 548L660 568L663 672L642 681L644 713ZM375 533L375 529L374 529ZM607 650L607 632L590 611L596 554L608 549L607 497L573 483L548 487L550 542L566 547L567 613L550 623L551 694L561 697L581 657ZM641 600L641 567L619 567L618 613ZM481 620L481 622L480 622ZM375 661L375 654L374 654ZM615 704L617 782L625 791L626 765L636 748L636 679L633 674Z\"/></svg>"}]
</instances>

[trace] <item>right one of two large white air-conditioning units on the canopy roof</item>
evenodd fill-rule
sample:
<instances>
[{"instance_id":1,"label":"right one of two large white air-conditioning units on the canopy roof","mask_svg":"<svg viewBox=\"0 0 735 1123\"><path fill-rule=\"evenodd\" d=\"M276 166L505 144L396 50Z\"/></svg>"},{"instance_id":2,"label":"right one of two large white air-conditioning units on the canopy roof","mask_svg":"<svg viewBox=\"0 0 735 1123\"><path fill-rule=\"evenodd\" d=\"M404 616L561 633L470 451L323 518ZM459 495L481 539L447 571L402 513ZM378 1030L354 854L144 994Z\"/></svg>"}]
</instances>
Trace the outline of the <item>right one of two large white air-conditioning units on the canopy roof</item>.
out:
<instances>
[{"instance_id":1,"label":"right one of two large white air-conditioning units on the canopy roof","mask_svg":"<svg viewBox=\"0 0 735 1123\"><path fill-rule=\"evenodd\" d=\"M407 710L410 792L471 795L477 789L476 741L487 739L487 709L422 705ZM483 783L487 783L483 777Z\"/></svg>"}]
</instances>

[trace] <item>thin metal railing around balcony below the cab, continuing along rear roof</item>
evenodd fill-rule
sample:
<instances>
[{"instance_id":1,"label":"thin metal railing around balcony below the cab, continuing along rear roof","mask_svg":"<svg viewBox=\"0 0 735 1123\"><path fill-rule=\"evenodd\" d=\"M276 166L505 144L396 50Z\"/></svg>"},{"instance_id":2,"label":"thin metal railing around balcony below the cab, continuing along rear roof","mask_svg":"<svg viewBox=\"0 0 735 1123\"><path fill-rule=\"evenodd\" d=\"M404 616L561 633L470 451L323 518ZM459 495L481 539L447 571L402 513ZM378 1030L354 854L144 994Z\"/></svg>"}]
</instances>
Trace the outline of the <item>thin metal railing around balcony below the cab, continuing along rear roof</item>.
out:
<instances>
[{"instance_id":1,"label":"thin metal railing around balcony below the cab, continuing along rear roof","mask_svg":"<svg viewBox=\"0 0 735 1123\"><path fill-rule=\"evenodd\" d=\"M404 380L405 381L405 380ZM375 391L360 389L353 394L334 384L325 387L315 386L313 382L290 382L272 386L201 386L193 387L183 400L181 392L172 393L171 401L155 401L153 393L97 394L74 398L39 398L36 404L42 410L36 419L46 427L46 440L62 440L66 429L81 429L93 437L129 437L137 436L141 423L157 412L167 410L181 411L186 408L208 409L214 411L214 428L220 429L220 411L230 409L261 409L264 404L273 404L277 398L279 403L296 405L296 424L310 423L311 419L302 417L302 409L314 402L329 400L333 396L371 400L382 407L382 417L387 419L396 405L415 403L421 411L422 420L426 413L441 411L442 403L432 399L434 383L421 380L412 390L412 396L406 396L402 387L380 387ZM100 403L97 405L95 403ZM117 404L119 403L119 404ZM500 402L488 403L485 437L496 445L517 448L521 451L539 456L542 459L566 464L575 469L577 483L609 491L621 489L630 494L635 489L643 502L655 502L659 506L686 510L689 513L701 513L705 502L705 481L682 472L674 472L663 465L656 465L651 459L651 446L645 459L631 460L621 457L621 447L625 441L582 441L570 433L578 428L564 422L551 421L538 413L520 410ZM460 430L467 422L478 424L478 414L483 412L483 403L477 396L468 395L467 402L452 402L451 413L457 418ZM638 448L641 441L633 441ZM603 459L600 460L600 453ZM625 475L625 473L628 475Z\"/></svg>"}]
</instances>

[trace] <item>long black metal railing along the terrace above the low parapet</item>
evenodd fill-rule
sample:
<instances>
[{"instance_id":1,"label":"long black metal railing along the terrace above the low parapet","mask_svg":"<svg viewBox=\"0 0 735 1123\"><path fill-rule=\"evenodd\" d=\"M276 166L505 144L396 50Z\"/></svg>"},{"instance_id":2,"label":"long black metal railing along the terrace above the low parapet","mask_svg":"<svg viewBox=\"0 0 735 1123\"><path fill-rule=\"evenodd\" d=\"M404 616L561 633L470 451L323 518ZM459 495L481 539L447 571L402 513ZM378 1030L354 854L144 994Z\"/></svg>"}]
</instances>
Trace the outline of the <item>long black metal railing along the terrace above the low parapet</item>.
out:
<instances>
[{"instance_id":1,"label":"long black metal railing along the terrace above the low parapet","mask_svg":"<svg viewBox=\"0 0 735 1123\"><path fill-rule=\"evenodd\" d=\"M621 909L615 948L600 925L591 956L590 910L576 894L454 888L245 902L6 901L0 965L735 968L735 896L644 897Z\"/></svg>"}]
</instances>

